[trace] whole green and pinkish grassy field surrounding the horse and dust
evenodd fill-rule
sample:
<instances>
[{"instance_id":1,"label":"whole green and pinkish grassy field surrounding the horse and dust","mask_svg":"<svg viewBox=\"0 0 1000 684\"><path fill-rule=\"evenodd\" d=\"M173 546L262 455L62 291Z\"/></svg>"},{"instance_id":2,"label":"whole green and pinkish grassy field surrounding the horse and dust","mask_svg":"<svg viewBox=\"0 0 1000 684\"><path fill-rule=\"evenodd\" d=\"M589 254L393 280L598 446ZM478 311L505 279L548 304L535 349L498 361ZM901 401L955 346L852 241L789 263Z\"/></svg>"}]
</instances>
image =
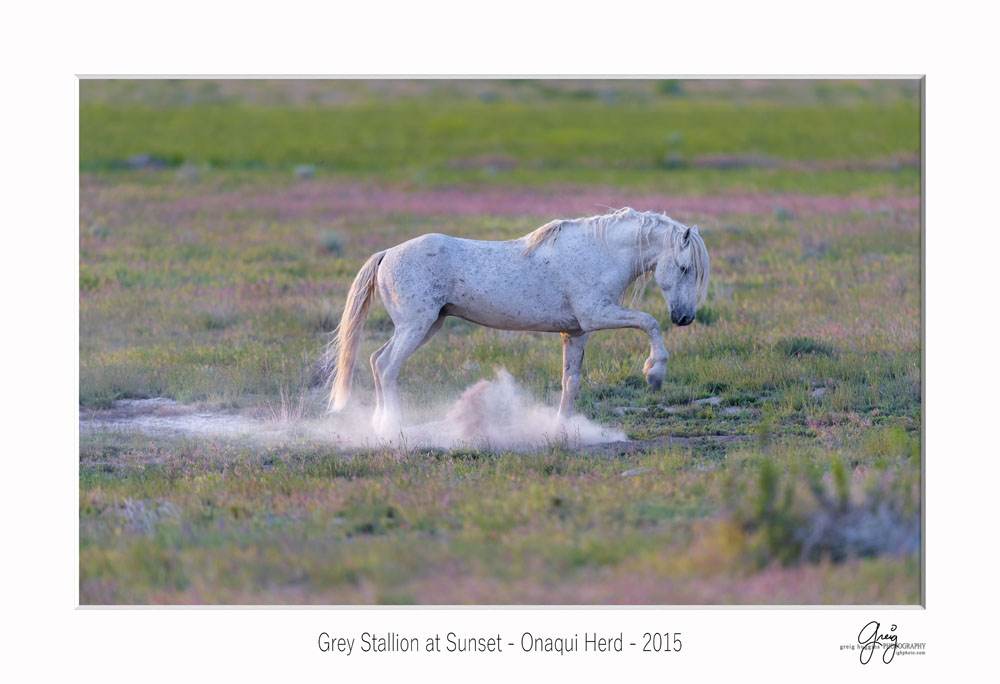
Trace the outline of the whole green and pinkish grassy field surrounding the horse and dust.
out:
<instances>
[{"instance_id":1,"label":"whole green and pinkish grassy field surrounding the horse and dust","mask_svg":"<svg viewBox=\"0 0 1000 684\"><path fill-rule=\"evenodd\" d=\"M592 336L577 409L627 443L82 430L81 603L918 602L919 129L900 82L83 82L82 426L153 397L320 416L347 287L425 232L662 210L712 286L687 328L639 306L661 391L641 334ZM384 309L365 330L362 359ZM557 336L451 319L408 415L498 366L558 401Z\"/></svg>"}]
</instances>

